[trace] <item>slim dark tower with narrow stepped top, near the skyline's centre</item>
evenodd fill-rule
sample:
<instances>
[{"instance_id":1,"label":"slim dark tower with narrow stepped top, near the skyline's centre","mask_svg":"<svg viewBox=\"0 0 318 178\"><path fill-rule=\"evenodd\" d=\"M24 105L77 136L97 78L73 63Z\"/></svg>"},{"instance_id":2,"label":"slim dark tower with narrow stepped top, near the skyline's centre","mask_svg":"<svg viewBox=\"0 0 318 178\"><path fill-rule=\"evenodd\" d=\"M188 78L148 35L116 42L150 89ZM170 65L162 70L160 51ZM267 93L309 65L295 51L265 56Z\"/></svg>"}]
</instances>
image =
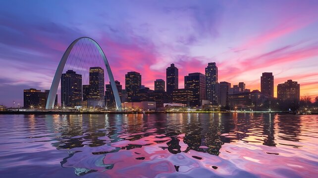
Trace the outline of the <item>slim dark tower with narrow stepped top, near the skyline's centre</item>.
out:
<instances>
[{"instance_id":1,"label":"slim dark tower with narrow stepped top, near the skyline's centre","mask_svg":"<svg viewBox=\"0 0 318 178\"><path fill-rule=\"evenodd\" d=\"M166 82L168 95L171 95L174 89L179 88L179 70L174 67L174 64L170 64L170 67L166 70Z\"/></svg>"}]
</instances>

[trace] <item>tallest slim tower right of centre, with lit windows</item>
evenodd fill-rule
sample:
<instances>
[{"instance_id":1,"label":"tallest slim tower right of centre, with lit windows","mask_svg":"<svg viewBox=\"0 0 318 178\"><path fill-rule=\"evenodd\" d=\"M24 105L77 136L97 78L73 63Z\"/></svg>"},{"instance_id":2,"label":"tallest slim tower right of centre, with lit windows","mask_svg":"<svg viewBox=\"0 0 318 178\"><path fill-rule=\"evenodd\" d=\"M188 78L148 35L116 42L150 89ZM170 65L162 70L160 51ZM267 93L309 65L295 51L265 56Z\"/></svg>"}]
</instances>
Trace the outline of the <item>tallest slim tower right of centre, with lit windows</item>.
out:
<instances>
[{"instance_id":1,"label":"tallest slim tower right of centre, with lit windows","mask_svg":"<svg viewBox=\"0 0 318 178\"><path fill-rule=\"evenodd\" d=\"M218 97L217 67L215 62L211 62L206 67L206 98L216 105L219 103Z\"/></svg>"}]
</instances>

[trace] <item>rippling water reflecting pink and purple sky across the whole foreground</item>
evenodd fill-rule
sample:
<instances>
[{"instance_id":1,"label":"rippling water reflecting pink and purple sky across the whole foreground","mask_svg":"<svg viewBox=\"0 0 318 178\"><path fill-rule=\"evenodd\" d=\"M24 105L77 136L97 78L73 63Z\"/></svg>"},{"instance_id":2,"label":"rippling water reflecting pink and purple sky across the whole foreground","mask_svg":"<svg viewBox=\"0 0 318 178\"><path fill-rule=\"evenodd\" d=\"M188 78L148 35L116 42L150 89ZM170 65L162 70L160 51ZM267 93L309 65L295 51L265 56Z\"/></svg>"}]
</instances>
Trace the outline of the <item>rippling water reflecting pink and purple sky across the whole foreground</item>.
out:
<instances>
[{"instance_id":1,"label":"rippling water reflecting pink and purple sky across the whole foreground","mask_svg":"<svg viewBox=\"0 0 318 178\"><path fill-rule=\"evenodd\" d=\"M317 174L317 115L0 115L1 177Z\"/></svg>"}]
</instances>

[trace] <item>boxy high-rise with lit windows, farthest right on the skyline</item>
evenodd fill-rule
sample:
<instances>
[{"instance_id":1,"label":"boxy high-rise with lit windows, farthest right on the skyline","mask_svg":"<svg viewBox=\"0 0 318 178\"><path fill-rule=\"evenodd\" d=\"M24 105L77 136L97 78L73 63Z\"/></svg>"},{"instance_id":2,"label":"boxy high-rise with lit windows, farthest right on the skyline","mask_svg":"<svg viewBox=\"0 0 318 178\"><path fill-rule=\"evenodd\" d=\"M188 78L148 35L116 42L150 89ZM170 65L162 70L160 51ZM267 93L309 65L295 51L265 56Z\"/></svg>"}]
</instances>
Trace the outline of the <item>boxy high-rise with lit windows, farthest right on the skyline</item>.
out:
<instances>
[{"instance_id":1,"label":"boxy high-rise with lit windows, farthest right on the skyline","mask_svg":"<svg viewBox=\"0 0 318 178\"><path fill-rule=\"evenodd\" d=\"M277 86L277 99L278 101L297 100L300 99L300 84L287 80L284 84Z\"/></svg>"}]
</instances>

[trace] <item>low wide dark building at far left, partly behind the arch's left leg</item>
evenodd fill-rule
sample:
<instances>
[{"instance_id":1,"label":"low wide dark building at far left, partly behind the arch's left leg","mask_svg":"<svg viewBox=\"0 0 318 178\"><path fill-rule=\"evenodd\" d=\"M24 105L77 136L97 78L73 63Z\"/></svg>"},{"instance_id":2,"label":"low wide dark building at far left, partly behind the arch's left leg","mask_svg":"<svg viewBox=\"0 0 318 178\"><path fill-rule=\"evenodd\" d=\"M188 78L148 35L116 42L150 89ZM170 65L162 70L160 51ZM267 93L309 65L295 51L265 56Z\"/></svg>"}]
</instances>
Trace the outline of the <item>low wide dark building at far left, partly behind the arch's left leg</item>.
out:
<instances>
[{"instance_id":1,"label":"low wide dark building at far left, partly behind the arch's left leg","mask_svg":"<svg viewBox=\"0 0 318 178\"><path fill-rule=\"evenodd\" d=\"M23 90L23 107L24 108L42 108L45 109L50 90L41 92L38 89ZM57 106L57 94L54 105Z\"/></svg>"}]
</instances>

